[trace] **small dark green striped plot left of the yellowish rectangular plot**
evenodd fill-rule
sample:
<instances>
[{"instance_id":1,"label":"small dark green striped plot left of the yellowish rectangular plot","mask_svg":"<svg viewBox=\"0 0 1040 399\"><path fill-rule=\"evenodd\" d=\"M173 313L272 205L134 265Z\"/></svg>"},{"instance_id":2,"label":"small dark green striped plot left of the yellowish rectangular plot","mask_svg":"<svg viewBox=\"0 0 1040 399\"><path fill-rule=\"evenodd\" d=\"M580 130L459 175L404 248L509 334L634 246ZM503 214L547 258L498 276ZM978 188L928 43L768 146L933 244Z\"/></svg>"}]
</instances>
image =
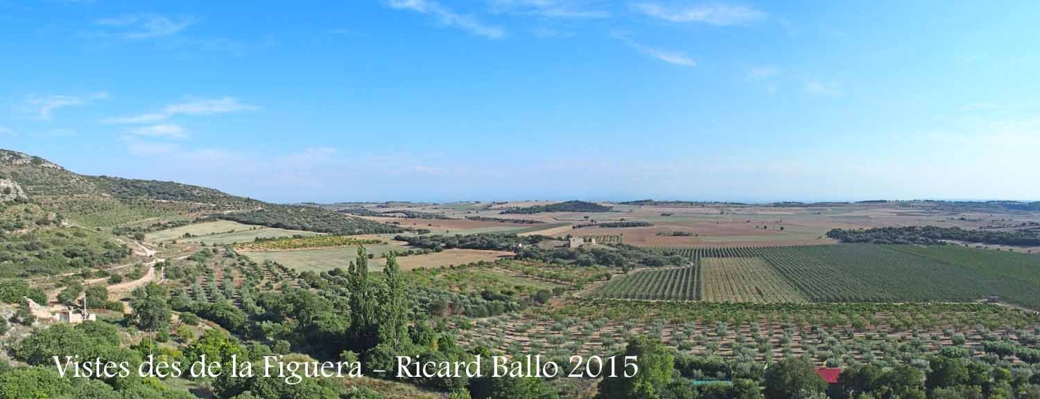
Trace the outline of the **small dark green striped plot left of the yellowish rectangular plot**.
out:
<instances>
[{"instance_id":1,"label":"small dark green striped plot left of the yellowish rectangular plot","mask_svg":"<svg viewBox=\"0 0 1040 399\"><path fill-rule=\"evenodd\" d=\"M596 295L621 299L698 299L697 266L636 271L613 278Z\"/></svg>"}]
</instances>

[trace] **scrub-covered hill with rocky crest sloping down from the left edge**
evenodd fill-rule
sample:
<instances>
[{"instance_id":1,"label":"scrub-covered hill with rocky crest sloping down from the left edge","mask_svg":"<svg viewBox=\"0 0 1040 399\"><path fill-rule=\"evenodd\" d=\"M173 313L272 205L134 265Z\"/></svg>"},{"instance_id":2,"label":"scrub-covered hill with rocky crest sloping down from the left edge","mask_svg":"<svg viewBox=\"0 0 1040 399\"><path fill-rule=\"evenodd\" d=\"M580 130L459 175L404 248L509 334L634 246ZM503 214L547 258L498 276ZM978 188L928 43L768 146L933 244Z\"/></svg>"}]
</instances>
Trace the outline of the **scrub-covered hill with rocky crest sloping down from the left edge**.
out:
<instances>
[{"instance_id":1,"label":"scrub-covered hill with rocky crest sloping down from the left edge","mask_svg":"<svg viewBox=\"0 0 1040 399\"><path fill-rule=\"evenodd\" d=\"M268 204L207 187L155 180L85 176L46 159L0 150L0 193L20 196L72 223L120 233L219 217L248 224L323 233L397 233L399 228L330 210Z\"/></svg>"}]
</instances>

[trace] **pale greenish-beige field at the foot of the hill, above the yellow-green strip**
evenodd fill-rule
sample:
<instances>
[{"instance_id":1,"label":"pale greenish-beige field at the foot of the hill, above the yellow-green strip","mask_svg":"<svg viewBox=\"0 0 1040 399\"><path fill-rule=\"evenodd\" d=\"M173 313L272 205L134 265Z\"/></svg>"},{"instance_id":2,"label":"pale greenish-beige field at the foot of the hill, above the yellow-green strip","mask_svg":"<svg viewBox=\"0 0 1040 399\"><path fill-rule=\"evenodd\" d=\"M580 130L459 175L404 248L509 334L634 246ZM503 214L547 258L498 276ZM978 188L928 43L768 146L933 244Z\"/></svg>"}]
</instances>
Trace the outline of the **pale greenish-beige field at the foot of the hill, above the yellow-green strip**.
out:
<instances>
[{"instance_id":1,"label":"pale greenish-beige field at the foot of the hill, above the yellow-green strip","mask_svg":"<svg viewBox=\"0 0 1040 399\"><path fill-rule=\"evenodd\" d=\"M190 234L192 237L185 238L185 233ZM291 237L294 235L314 236L317 234L318 233L304 232L300 230L285 230L242 224L231 220L217 220L163 230L150 233L145 237L149 241L179 240L220 245L252 242L257 237Z\"/></svg>"}]
</instances>

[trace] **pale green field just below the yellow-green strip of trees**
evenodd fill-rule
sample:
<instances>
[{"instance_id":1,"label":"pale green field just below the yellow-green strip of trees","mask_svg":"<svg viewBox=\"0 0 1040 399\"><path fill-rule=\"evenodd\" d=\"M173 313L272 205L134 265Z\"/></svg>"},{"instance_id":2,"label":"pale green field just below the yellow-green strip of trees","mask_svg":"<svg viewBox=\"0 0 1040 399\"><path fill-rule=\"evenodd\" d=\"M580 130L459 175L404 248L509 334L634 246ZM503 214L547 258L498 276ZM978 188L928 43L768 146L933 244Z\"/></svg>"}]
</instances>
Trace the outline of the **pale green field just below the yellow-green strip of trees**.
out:
<instances>
[{"instance_id":1,"label":"pale green field just below the yellow-green strip of trees","mask_svg":"<svg viewBox=\"0 0 1040 399\"><path fill-rule=\"evenodd\" d=\"M407 247L397 244L365 245L368 254L375 258L391 250L405 250ZM357 246L342 246L338 248L322 249L301 249L301 250L268 250L268 251L240 251L256 262L274 261L285 265L296 271L329 271L337 267L346 270L358 257ZM382 269L375 260L369 262L371 270Z\"/></svg>"}]
</instances>

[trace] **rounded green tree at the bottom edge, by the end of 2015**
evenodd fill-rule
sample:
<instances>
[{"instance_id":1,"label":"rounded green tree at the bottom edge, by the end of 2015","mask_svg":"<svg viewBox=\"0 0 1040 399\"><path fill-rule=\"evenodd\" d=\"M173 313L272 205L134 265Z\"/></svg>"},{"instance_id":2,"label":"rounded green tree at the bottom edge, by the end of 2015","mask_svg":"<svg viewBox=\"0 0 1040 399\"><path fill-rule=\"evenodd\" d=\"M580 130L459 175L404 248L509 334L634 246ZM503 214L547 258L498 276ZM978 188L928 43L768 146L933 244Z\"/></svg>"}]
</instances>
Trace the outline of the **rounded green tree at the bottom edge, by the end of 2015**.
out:
<instances>
[{"instance_id":1,"label":"rounded green tree at the bottom edge, by the end of 2015","mask_svg":"<svg viewBox=\"0 0 1040 399\"><path fill-rule=\"evenodd\" d=\"M622 362L618 362L613 373L617 377L607 376L600 381L597 398L660 398L672 380L675 364L672 351L658 340L640 336L628 340L624 355L618 358L625 356L635 356L639 372L634 376L625 377L626 368ZM604 370L603 374L612 375L609 370Z\"/></svg>"}]
</instances>

